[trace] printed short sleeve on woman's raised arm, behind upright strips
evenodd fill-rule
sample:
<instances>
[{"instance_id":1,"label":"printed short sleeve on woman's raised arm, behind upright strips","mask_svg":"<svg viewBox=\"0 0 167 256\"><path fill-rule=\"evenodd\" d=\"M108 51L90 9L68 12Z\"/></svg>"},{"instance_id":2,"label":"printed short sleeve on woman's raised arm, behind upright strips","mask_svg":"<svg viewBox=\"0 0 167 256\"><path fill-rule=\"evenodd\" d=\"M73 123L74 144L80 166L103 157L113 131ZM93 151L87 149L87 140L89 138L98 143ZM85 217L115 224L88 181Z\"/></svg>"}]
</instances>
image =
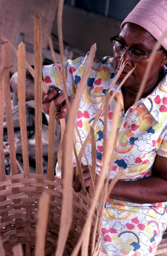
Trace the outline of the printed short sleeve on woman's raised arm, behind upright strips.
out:
<instances>
[{"instance_id":1,"label":"printed short sleeve on woman's raised arm, behind upright strips","mask_svg":"<svg viewBox=\"0 0 167 256\"><path fill-rule=\"evenodd\" d=\"M85 57L76 58L74 60L67 60L65 62L65 76L67 93L70 97L75 96L75 91L79 87L80 81L84 74L84 69L88 60L89 52ZM58 65L62 74L62 67ZM63 90L61 82L57 76L56 67L54 64L43 66L43 80L49 86L56 86ZM94 96L105 95L105 91L111 85L114 79L113 58L106 56L104 58L94 57L92 67L89 73L86 85L91 87L91 94ZM63 78L63 76L62 76ZM101 85L101 86L99 86ZM103 90L103 92L102 92Z\"/></svg>"}]
</instances>

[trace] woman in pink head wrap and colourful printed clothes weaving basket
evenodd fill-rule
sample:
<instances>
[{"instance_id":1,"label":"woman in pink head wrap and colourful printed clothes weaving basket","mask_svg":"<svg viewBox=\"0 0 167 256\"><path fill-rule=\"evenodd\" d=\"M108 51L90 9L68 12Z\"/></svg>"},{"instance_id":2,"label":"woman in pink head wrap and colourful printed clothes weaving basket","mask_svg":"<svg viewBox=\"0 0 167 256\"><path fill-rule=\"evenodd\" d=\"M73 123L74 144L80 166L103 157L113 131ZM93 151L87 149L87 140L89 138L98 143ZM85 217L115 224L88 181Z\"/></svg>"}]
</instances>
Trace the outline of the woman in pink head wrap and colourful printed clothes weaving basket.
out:
<instances>
[{"instance_id":1,"label":"woman in pink head wrap and colourful printed clothes weaving basket","mask_svg":"<svg viewBox=\"0 0 167 256\"><path fill-rule=\"evenodd\" d=\"M121 98L120 123L116 139L114 162L109 166L110 178L122 168L128 169L110 193L102 223L102 256L146 256L155 255L163 232L167 227L167 38L157 50L154 62L147 77L141 99L135 103L143 74L150 60L150 53L157 40L165 33L167 24L166 0L141 0L121 25L121 33L111 38L114 44L114 58L94 58L91 72L80 107L76 125L82 140L86 138L89 126L100 107L106 90L109 89L121 61L126 63L124 71L116 82L113 92L129 70L133 73L115 95L108 109L108 126L112 124L113 111L117 97ZM83 75L85 58L66 61L68 94L73 97ZM43 78L48 86L60 87L53 65L43 67ZM14 91L17 74L11 79ZM33 97L33 82L27 80L27 96ZM112 92L112 93L113 93ZM29 96L32 95L32 96ZM51 100L57 91L51 89L43 99L43 108L48 111ZM56 114L60 119L66 115L64 95L54 99L61 105ZM130 113L134 110L133 114ZM103 122L98 121L96 132L96 173L99 175L103 165ZM128 122L124 140L120 140ZM77 152L81 143L76 132ZM91 142L86 152L91 165ZM73 159L75 162L75 159ZM82 158L86 187L90 177L85 157ZM57 167L57 175L61 170ZM96 182L98 180L96 175ZM80 190L80 180L76 177L73 187Z\"/></svg>"}]
</instances>

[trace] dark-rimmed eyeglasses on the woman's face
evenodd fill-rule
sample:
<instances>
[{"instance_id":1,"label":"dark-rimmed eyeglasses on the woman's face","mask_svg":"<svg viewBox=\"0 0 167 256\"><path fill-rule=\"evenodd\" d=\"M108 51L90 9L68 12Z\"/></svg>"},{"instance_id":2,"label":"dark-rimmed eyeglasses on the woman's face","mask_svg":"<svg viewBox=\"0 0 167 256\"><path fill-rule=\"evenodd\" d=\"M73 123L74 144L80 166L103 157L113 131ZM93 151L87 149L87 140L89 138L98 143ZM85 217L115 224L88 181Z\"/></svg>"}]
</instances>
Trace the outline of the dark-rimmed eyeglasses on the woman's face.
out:
<instances>
[{"instance_id":1,"label":"dark-rimmed eyeglasses on the woman's face","mask_svg":"<svg viewBox=\"0 0 167 256\"><path fill-rule=\"evenodd\" d=\"M116 39L118 36L119 35L111 37L110 40L113 44L113 49L115 50L116 53L120 55L123 54L126 49L128 49L130 58L134 61L139 61L142 58L142 56L145 55L146 53L153 52L153 50L145 52L136 47L126 47L123 43L121 43L118 39ZM164 48L160 48L157 51L161 51L161 50L164 50Z\"/></svg>"}]
</instances>

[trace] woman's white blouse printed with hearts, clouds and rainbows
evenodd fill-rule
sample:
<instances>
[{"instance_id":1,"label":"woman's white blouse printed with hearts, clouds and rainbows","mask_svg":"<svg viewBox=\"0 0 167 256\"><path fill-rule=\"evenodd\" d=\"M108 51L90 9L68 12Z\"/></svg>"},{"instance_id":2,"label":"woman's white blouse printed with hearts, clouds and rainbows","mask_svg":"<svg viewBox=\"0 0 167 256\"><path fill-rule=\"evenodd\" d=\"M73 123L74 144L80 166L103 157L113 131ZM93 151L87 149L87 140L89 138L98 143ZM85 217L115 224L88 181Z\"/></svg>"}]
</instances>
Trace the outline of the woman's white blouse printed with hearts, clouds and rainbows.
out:
<instances>
[{"instance_id":1,"label":"woman's white blouse printed with hearts, clouds and rainbows","mask_svg":"<svg viewBox=\"0 0 167 256\"><path fill-rule=\"evenodd\" d=\"M85 57L65 62L67 92L70 97L74 97L79 87L88 55L89 53ZM61 65L59 65L59 68L61 70ZM154 91L146 98L141 98L136 105L132 105L126 113L124 111L121 89L118 90L115 98L108 106L107 133L109 134L115 103L117 98L120 97L120 120L118 137L113 152L114 161L108 167L111 179L122 168L127 168L128 170L121 177L122 180L136 180L151 176L156 155L167 157L167 69L164 66L161 67L160 71L163 72L164 77ZM83 142L114 77L113 58L95 57L76 116L76 125ZM43 78L47 86L56 85L62 89L54 65L43 66ZM115 83L111 94L117 86L118 83ZM131 115L133 109L135 111ZM122 137L127 122L128 128L125 136ZM104 115L101 116L95 126L95 134L96 172L100 173L103 166ZM74 140L76 151L79 152L81 142L77 131L75 132ZM91 165L91 140L88 141L85 154ZM75 158L73 158L73 162L74 164L76 163ZM82 157L82 164L86 164L84 155ZM61 170L58 167L57 175L59 176L60 173ZM106 207L110 208L114 204L115 200L110 198L106 203ZM125 206L125 204L124 202L123 205ZM138 206L138 204L133 205ZM128 203L126 206L128 207ZM157 206L159 205L154 204L154 207ZM165 203L162 203L161 207L163 211L164 209L167 210Z\"/></svg>"}]
</instances>

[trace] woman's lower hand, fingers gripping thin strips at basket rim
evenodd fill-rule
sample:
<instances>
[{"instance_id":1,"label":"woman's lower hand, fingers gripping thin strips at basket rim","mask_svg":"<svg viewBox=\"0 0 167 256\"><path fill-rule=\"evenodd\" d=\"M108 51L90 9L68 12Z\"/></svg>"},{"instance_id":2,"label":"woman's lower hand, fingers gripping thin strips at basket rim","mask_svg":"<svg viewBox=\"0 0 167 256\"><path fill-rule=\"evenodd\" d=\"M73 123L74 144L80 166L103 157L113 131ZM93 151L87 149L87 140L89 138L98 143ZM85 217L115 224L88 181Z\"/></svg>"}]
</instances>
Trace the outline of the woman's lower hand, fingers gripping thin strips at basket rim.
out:
<instances>
[{"instance_id":1,"label":"woman's lower hand, fingers gripping thin strips at basket rim","mask_svg":"<svg viewBox=\"0 0 167 256\"><path fill-rule=\"evenodd\" d=\"M92 167L90 166L90 169L91 168ZM90 188L90 185L91 185L91 177L90 177L88 165L82 166L82 171L83 171L83 175L84 175L85 188L89 192L89 188ZM99 179L99 175L95 174L94 187L97 185L98 179ZM75 192L79 192L81 190L80 175L76 176L76 178L73 182L73 189L74 189Z\"/></svg>"}]
</instances>

